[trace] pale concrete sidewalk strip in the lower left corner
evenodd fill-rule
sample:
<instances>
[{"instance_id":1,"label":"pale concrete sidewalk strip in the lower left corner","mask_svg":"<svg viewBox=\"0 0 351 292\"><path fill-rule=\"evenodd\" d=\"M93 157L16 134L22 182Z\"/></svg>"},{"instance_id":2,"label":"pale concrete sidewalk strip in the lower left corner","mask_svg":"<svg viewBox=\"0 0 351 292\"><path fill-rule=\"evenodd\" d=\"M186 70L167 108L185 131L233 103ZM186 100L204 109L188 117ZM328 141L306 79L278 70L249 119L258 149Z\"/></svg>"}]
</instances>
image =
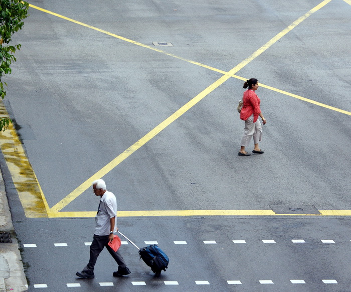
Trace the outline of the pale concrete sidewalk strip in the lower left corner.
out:
<instances>
[{"instance_id":1,"label":"pale concrete sidewalk strip in the lower left corner","mask_svg":"<svg viewBox=\"0 0 351 292\"><path fill-rule=\"evenodd\" d=\"M21 253L0 171L0 232L9 232L12 243L0 243L0 292L28 291Z\"/></svg>"}]
</instances>

